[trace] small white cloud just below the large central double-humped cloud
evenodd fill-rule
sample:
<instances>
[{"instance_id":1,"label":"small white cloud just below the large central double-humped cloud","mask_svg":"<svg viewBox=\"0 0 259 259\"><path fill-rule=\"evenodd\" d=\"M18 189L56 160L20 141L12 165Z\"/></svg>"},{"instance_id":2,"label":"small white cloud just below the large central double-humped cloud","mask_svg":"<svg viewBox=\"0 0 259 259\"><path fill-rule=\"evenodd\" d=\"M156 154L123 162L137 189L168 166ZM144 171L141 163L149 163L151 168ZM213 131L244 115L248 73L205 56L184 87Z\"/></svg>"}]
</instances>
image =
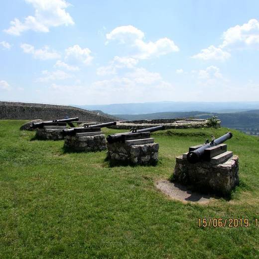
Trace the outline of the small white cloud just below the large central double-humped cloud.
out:
<instances>
[{"instance_id":1,"label":"small white cloud just below the large central double-humped cloud","mask_svg":"<svg viewBox=\"0 0 259 259\"><path fill-rule=\"evenodd\" d=\"M137 59L131 57L118 57L115 56L108 66L99 67L96 71L97 75L115 75L120 68L134 68L138 63Z\"/></svg>"}]
</instances>

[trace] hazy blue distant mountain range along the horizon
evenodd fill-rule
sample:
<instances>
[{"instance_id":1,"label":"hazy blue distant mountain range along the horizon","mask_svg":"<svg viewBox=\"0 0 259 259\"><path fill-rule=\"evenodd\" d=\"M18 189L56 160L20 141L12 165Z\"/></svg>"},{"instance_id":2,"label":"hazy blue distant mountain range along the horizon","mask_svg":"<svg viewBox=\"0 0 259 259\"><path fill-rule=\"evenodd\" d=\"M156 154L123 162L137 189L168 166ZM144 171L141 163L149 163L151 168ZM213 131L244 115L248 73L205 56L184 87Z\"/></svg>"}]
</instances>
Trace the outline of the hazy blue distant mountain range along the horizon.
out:
<instances>
[{"instance_id":1,"label":"hazy blue distant mountain range along the horizon","mask_svg":"<svg viewBox=\"0 0 259 259\"><path fill-rule=\"evenodd\" d=\"M104 113L112 115L190 111L233 113L259 109L259 102L153 102L110 105L82 105L78 107L88 110L101 110Z\"/></svg>"}]
</instances>

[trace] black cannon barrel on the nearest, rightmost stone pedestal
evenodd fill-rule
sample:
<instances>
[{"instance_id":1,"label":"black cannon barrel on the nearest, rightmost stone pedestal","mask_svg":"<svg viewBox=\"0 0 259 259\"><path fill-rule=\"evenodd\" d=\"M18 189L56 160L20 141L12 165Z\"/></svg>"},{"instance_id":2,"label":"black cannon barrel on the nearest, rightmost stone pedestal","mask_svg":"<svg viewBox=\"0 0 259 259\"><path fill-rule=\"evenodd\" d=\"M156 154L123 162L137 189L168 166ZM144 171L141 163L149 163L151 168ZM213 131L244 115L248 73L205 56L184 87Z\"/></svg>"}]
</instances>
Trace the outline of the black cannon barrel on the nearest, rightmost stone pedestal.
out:
<instances>
[{"instance_id":1,"label":"black cannon barrel on the nearest, rightmost stone pedestal","mask_svg":"<svg viewBox=\"0 0 259 259\"><path fill-rule=\"evenodd\" d=\"M228 132L225 135L220 136L219 138L217 138L215 140L212 140L210 143L204 144L203 146L201 146L193 151L190 151L187 154L188 162L190 162L192 164L199 162L202 159L204 150L206 148L221 144L221 143L225 142L227 139L232 138L232 136L233 136L233 134L231 132Z\"/></svg>"}]
</instances>

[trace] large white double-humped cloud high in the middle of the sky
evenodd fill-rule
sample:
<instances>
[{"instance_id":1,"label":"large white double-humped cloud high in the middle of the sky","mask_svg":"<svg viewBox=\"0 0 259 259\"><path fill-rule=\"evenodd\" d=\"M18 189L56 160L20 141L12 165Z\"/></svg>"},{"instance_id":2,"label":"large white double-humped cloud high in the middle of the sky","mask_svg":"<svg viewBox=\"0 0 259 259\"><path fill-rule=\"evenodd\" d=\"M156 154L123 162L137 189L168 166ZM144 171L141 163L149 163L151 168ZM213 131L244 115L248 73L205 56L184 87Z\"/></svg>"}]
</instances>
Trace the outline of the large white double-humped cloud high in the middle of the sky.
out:
<instances>
[{"instance_id":1,"label":"large white double-humped cloud high in the middle of the sky","mask_svg":"<svg viewBox=\"0 0 259 259\"><path fill-rule=\"evenodd\" d=\"M136 53L132 57L137 59L148 59L179 51L173 40L168 38L160 38L155 42L145 42L143 40L144 33L132 25L116 27L106 34L106 38L107 43L111 40L118 40L122 44L134 47Z\"/></svg>"}]
</instances>

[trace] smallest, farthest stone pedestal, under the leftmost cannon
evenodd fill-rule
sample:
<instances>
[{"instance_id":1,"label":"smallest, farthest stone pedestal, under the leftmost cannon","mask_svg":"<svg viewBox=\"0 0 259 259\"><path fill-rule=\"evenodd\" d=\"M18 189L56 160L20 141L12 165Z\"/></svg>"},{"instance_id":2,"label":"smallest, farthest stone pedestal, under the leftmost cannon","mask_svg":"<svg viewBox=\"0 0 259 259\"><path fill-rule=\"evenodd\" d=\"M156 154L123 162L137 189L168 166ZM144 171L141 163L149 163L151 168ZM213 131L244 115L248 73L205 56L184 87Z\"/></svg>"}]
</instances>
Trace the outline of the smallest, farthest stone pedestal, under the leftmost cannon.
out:
<instances>
[{"instance_id":1,"label":"smallest, farthest stone pedestal, under the leftmost cannon","mask_svg":"<svg viewBox=\"0 0 259 259\"><path fill-rule=\"evenodd\" d=\"M61 140L64 139L62 130L67 129L66 126L44 126L43 129L36 130L36 138L38 139L50 139L50 140Z\"/></svg>"}]
</instances>

